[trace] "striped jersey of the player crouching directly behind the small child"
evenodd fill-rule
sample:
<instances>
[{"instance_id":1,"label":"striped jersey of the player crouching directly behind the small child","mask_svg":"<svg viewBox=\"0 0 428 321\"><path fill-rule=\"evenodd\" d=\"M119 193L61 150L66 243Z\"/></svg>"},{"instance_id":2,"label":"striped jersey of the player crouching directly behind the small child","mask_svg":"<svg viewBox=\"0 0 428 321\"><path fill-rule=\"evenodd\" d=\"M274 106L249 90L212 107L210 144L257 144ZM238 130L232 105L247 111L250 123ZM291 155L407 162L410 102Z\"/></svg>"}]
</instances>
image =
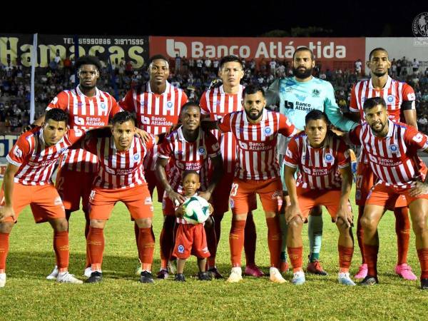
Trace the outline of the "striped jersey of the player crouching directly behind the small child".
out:
<instances>
[{"instance_id":1,"label":"striped jersey of the player crouching directly behind the small child","mask_svg":"<svg viewBox=\"0 0 428 321\"><path fill-rule=\"evenodd\" d=\"M208 158L220 155L220 146L212 133L199 129L196 141L188 142L183 136L182 128L170 133L158 148L158 157L170 159L168 172L171 188L184 193L181 185L185 170L196 170L199 173L200 190L208 188Z\"/></svg>"}]
</instances>

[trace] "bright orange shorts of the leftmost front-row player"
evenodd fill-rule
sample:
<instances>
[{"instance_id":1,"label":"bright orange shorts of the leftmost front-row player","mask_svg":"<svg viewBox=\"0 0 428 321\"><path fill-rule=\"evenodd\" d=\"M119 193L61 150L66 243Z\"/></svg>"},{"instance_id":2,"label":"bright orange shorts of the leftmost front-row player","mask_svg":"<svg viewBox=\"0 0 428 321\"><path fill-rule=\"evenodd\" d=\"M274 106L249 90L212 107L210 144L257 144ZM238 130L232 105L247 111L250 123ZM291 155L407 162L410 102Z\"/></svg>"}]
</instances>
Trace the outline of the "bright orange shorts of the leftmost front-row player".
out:
<instances>
[{"instance_id":1,"label":"bright orange shorts of the leftmost front-row player","mask_svg":"<svg viewBox=\"0 0 428 321\"><path fill-rule=\"evenodd\" d=\"M0 191L1 203L4 205L3 186ZM14 183L14 212L15 218L18 216L26 205L30 205L31 212L36 223L44 223L48 220L66 218L63 203L58 195L58 191L52 184L48 185L22 185ZM14 222L13 218L6 218L4 222Z\"/></svg>"}]
</instances>

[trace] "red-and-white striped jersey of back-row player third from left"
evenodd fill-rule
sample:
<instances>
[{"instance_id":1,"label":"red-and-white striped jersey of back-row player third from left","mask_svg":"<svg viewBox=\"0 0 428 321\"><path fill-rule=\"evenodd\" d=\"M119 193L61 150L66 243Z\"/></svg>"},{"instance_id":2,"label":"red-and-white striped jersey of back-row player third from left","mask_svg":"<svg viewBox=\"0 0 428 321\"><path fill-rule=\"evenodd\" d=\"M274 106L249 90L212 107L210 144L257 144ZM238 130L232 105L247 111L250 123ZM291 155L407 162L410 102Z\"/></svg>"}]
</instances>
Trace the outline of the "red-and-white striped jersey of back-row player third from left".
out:
<instances>
[{"instance_id":1,"label":"red-and-white striped jersey of back-row player third from left","mask_svg":"<svg viewBox=\"0 0 428 321\"><path fill-rule=\"evenodd\" d=\"M214 121L218 121L228 113L242 111L243 89L242 85L239 86L238 93L225 93L223 85L218 88L208 89L200 98L201 113L209 115ZM225 172L235 173L237 149L233 133L220 133L220 131L214 130L213 134L220 143Z\"/></svg>"}]
</instances>

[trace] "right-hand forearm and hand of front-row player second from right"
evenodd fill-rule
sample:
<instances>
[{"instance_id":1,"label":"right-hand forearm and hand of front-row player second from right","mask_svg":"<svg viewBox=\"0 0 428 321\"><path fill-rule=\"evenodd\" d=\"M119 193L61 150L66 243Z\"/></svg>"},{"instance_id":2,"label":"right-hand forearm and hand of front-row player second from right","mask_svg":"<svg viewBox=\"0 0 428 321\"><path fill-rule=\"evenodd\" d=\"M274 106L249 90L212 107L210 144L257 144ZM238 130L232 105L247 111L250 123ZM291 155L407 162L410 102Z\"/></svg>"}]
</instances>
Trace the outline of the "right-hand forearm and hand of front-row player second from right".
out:
<instances>
[{"instance_id":1,"label":"right-hand forearm and hand of front-row player second from right","mask_svg":"<svg viewBox=\"0 0 428 321\"><path fill-rule=\"evenodd\" d=\"M351 166L349 165L345 168L340 168L340 174L342 175L342 193L340 195L339 208L334 220L335 222L344 225L345 228L351 228L354 226L354 218L349 206L353 180Z\"/></svg>"}]
</instances>

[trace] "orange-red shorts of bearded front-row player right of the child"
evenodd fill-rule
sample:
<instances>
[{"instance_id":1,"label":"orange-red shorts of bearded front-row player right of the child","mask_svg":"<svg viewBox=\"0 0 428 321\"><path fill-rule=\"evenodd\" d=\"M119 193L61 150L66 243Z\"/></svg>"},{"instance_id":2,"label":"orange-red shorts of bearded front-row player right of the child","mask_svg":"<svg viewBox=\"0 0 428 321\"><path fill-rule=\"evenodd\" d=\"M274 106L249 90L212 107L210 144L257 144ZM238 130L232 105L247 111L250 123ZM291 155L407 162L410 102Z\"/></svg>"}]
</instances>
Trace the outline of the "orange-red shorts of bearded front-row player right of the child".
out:
<instances>
[{"instance_id":1,"label":"orange-red shorts of bearded front-row player right of the child","mask_svg":"<svg viewBox=\"0 0 428 321\"><path fill-rule=\"evenodd\" d=\"M234 178L232 189L230 190L232 214L248 213L255 199L255 193L260 195L265 212L279 213L282 206L282 183L278 177L267 180L241 180L240 178Z\"/></svg>"}]
</instances>

